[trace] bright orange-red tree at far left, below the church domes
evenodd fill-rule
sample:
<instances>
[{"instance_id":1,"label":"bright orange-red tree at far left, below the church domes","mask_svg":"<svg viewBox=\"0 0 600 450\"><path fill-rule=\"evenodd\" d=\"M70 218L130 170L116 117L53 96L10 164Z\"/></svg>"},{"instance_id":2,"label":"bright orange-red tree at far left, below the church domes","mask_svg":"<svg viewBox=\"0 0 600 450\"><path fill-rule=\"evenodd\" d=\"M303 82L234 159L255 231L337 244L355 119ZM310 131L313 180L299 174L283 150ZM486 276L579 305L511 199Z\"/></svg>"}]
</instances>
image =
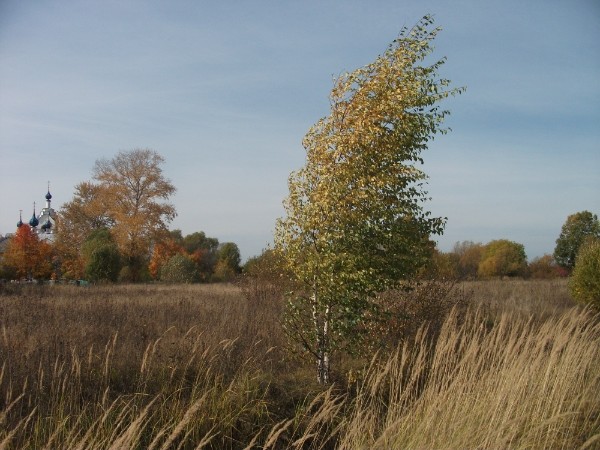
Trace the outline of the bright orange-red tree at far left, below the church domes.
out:
<instances>
[{"instance_id":1,"label":"bright orange-red tree at far left, below the church domes","mask_svg":"<svg viewBox=\"0 0 600 450\"><path fill-rule=\"evenodd\" d=\"M26 223L17 228L7 245L3 264L18 278L48 279L52 276L52 247L39 239Z\"/></svg>"}]
</instances>

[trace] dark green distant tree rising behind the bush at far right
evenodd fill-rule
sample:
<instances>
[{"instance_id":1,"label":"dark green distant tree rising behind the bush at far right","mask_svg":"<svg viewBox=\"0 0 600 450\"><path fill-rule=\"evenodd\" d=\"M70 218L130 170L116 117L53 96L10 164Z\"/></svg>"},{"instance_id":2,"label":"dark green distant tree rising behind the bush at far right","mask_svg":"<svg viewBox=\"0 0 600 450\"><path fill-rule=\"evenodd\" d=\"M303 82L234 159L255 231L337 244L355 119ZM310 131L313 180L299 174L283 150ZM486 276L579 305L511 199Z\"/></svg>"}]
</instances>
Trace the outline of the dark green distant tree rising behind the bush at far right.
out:
<instances>
[{"instance_id":1,"label":"dark green distant tree rising behind the bush at far right","mask_svg":"<svg viewBox=\"0 0 600 450\"><path fill-rule=\"evenodd\" d=\"M596 214L581 211L567 217L554 248L556 263L573 270L579 248L589 238L600 238L600 222Z\"/></svg>"}]
</instances>

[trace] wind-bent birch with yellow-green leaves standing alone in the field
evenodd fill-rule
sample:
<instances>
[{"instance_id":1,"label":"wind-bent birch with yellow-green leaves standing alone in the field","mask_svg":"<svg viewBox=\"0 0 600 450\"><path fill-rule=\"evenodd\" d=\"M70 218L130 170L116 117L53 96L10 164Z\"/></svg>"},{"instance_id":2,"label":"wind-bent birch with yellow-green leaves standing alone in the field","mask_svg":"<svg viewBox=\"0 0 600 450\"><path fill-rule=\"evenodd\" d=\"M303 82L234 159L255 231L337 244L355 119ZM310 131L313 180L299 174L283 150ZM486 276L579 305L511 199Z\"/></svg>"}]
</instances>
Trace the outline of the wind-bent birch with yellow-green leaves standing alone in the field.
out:
<instances>
[{"instance_id":1,"label":"wind-bent birch with yellow-green leaves standing alone in the field","mask_svg":"<svg viewBox=\"0 0 600 450\"><path fill-rule=\"evenodd\" d=\"M438 76L444 60L424 65L438 29L423 18L404 29L373 63L340 76L331 113L306 134L306 163L289 179L276 248L298 289L286 332L329 382L330 357L358 349L371 298L413 276L431 254L429 237L445 220L428 200L421 152L447 111L438 103L461 89Z\"/></svg>"}]
</instances>

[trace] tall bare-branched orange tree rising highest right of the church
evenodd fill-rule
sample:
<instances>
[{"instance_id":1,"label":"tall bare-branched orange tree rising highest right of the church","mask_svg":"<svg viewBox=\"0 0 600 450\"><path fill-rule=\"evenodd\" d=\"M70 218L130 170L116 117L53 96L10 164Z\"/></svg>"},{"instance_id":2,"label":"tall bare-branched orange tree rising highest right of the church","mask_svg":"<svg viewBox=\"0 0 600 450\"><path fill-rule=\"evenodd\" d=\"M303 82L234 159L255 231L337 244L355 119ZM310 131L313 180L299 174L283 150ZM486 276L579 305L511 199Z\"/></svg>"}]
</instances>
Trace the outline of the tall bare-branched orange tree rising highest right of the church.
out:
<instances>
[{"instance_id":1,"label":"tall bare-branched orange tree rising highest right of the church","mask_svg":"<svg viewBox=\"0 0 600 450\"><path fill-rule=\"evenodd\" d=\"M149 149L96 161L93 180L80 183L61 210L61 241L80 248L93 230L106 227L124 257L127 278L139 280L152 243L167 232L176 215L167 202L175 187L164 177L163 163L163 157Z\"/></svg>"}]
</instances>

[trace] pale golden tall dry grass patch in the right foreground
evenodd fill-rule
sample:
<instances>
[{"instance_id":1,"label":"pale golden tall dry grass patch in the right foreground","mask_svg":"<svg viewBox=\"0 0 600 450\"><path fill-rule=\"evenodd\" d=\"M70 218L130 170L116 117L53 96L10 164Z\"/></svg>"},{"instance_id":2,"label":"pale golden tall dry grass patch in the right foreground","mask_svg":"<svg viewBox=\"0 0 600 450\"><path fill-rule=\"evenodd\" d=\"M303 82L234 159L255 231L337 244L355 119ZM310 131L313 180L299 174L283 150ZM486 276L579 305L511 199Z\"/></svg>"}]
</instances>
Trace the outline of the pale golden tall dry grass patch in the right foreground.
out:
<instances>
[{"instance_id":1,"label":"pale golden tall dry grass patch in the right foreground","mask_svg":"<svg viewBox=\"0 0 600 450\"><path fill-rule=\"evenodd\" d=\"M570 310L543 322L453 314L375 362L339 448L598 448L600 325Z\"/></svg>"}]
</instances>

